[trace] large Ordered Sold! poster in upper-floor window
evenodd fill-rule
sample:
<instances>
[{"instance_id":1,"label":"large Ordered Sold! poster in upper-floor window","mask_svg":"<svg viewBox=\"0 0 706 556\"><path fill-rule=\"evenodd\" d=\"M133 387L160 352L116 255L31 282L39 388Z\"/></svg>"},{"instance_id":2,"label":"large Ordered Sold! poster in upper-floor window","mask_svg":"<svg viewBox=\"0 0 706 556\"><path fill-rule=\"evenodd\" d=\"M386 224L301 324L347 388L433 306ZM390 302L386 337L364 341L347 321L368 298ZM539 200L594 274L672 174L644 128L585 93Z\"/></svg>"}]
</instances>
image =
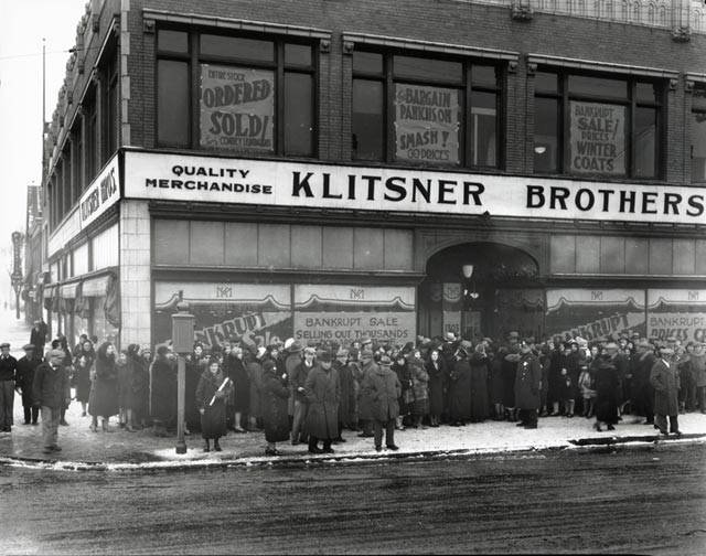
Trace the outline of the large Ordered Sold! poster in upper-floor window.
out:
<instances>
[{"instance_id":1,"label":"large Ordered Sold! poster in upper-floor window","mask_svg":"<svg viewBox=\"0 0 706 556\"><path fill-rule=\"evenodd\" d=\"M275 73L201 64L201 147L272 152Z\"/></svg>"}]
</instances>

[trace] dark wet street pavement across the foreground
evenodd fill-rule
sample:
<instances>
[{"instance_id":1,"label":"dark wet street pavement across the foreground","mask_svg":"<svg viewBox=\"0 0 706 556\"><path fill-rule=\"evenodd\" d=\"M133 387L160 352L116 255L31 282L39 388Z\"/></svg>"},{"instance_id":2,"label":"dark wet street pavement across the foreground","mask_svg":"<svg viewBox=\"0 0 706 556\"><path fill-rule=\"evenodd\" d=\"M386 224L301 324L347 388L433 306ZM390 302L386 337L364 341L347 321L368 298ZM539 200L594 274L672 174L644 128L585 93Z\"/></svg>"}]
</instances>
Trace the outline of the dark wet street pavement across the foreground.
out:
<instances>
[{"instance_id":1,"label":"dark wet street pavement across the foreground","mask_svg":"<svg viewBox=\"0 0 706 556\"><path fill-rule=\"evenodd\" d=\"M0 553L706 554L706 446L158 473L0 468Z\"/></svg>"}]
</instances>

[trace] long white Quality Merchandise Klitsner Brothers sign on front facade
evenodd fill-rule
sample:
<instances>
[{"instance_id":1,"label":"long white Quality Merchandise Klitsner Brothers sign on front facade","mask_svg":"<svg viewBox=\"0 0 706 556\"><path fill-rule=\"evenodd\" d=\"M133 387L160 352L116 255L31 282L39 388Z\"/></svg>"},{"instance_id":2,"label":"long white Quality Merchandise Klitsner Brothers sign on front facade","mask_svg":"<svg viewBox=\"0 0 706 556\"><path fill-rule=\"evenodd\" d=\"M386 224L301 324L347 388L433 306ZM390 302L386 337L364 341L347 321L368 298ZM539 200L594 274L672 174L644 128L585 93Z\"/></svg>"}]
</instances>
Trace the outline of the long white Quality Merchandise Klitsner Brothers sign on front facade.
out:
<instances>
[{"instance_id":1,"label":"long white Quality Merchandise Klitsner Brothers sign on front facade","mask_svg":"<svg viewBox=\"0 0 706 556\"><path fill-rule=\"evenodd\" d=\"M706 190L126 152L126 196L491 216L706 224Z\"/></svg>"}]
</instances>

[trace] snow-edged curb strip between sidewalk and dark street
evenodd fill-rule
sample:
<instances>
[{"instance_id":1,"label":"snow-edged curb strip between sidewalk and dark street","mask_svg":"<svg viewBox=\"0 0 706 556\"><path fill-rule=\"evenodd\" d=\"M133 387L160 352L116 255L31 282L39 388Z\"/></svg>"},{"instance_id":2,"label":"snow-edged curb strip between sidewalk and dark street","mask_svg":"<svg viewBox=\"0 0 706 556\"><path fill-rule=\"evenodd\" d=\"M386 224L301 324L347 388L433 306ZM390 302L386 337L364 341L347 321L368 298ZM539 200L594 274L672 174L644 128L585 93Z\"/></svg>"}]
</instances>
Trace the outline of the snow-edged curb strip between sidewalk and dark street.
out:
<instances>
[{"instance_id":1,"label":"snow-edged curb strip between sidewalk and dark street","mask_svg":"<svg viewBox=\"0 0 706 556\"><path fill-rule=\"evenodd\" d=\"M654 448L655 446L691 445L706 442L706 434L684 434L681 437L662 437L655 435L630 437L599 437L567 440L566 443L554 446L522 446L512 449L461 448L454 450L430 450L414 452L386 453L342 453L340 456L290 456L290 457L246 457L224 460L162 460L148 462L92 462L63 461L41 458L0 457L0 466L47 471L103 471L103 472L160 472L190 471L203 469L231 468L306 468L314 466L361 466L379 464L382 462L427 461L443 459L506 459L506 458L544 458L547 452L571 450L577 452L611 452L616 449Z\"/></svg>"}]
</instances>

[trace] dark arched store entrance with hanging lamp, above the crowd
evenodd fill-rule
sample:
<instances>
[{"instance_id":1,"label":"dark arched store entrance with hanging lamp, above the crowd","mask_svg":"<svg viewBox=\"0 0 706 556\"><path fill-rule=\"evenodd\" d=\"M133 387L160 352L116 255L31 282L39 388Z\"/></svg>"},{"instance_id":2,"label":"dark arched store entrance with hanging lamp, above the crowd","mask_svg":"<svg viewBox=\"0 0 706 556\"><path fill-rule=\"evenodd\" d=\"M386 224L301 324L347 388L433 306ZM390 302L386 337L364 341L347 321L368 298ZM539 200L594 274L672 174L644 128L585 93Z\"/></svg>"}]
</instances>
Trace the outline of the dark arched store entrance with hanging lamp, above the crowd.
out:
<instances>
[{"instance_id":1,"label":"dark arched store entrance with hanging lamp, above the crowd","mask_svg":"<svg viewBox=\"0 0 706 556\"><path fill-rule=\"evenodd\" d=\"M448 247L429 258L419 286L419 333L447 332L478 341L510 331L542 336L545 293L536 261L525 252L495 243Z\"/></svg>"}]
</instances>

